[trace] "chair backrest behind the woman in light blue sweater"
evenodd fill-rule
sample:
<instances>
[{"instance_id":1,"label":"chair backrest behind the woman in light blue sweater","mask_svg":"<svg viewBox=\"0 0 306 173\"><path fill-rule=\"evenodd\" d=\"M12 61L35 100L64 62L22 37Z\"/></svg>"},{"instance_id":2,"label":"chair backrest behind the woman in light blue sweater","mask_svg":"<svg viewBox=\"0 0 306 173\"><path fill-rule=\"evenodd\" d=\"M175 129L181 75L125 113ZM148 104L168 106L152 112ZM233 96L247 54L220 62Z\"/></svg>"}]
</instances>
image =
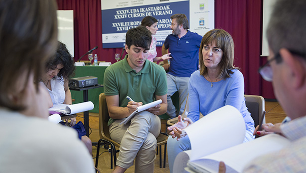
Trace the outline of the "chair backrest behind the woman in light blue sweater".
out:
<instances>
[{"instance_id":1,"label":"chair backrest behind the woman in light blue sweater","mask_svg":"<svg viewBox=\"0 0 306 173\"><path fill-rule=\"evenodd\" d=\"M259 124L260 118L265 111L265 99L260 95L244 95L245 104L248 108L248 111L251 113L251 116L254 120L255 127ZM264 118L263 124L266 123Z\"/></svg>"}]
</instances>

